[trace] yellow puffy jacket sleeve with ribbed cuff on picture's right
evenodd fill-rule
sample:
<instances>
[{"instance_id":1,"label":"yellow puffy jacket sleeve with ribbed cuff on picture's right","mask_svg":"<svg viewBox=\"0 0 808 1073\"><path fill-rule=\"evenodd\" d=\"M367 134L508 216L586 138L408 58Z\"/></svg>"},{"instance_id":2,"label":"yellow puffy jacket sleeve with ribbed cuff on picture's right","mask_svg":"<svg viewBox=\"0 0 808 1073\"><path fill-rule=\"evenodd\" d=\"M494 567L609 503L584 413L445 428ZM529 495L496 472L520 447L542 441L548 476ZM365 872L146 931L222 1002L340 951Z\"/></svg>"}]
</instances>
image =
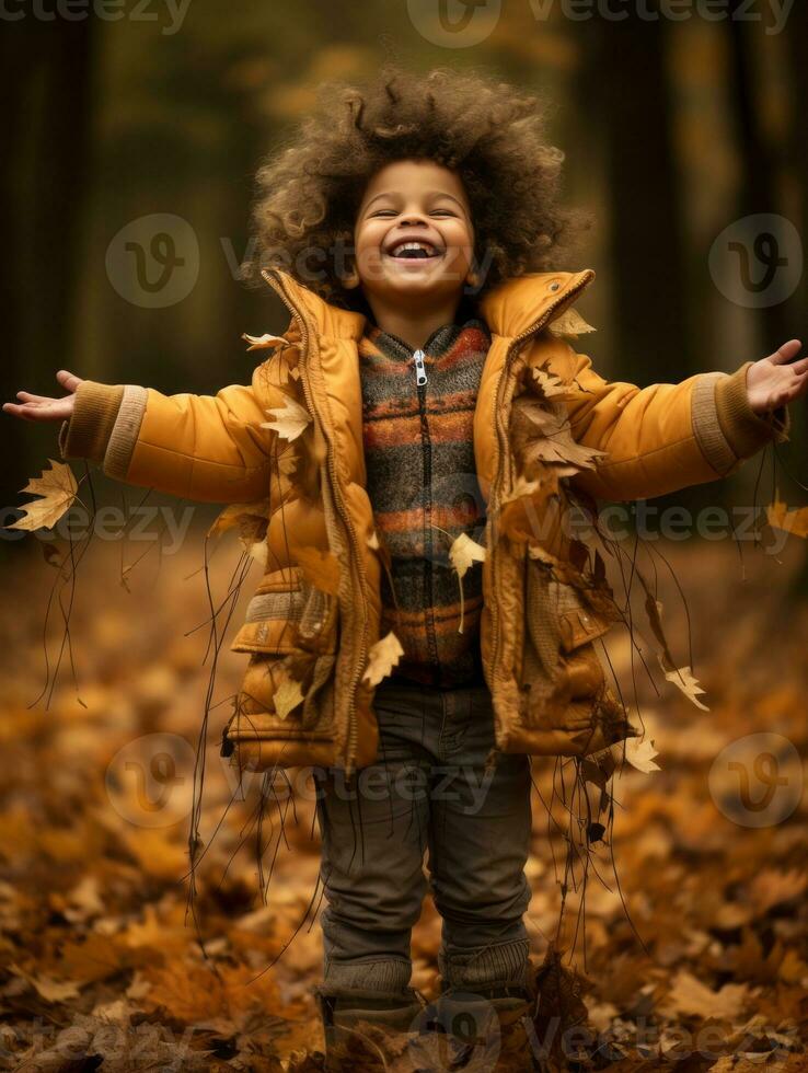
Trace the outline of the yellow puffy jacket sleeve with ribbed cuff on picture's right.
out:
<instances>
[{"instance_id":1,"label":"yellow puffy jacket sleeve with ribbed cuff on picture's right","mask_svg":"<svg viewBox=\"0 0 808 1073\"><path fill-rule=\"evenodd\" d=\"M770 441L787 440L786 406L759 416L749 405L752 364L638 388L605 381L576 354L576 390L566 400L572 435L608 458L576 474L573 486L615 501L651 498L728 476Z\"/></svg>"}]
</instances>

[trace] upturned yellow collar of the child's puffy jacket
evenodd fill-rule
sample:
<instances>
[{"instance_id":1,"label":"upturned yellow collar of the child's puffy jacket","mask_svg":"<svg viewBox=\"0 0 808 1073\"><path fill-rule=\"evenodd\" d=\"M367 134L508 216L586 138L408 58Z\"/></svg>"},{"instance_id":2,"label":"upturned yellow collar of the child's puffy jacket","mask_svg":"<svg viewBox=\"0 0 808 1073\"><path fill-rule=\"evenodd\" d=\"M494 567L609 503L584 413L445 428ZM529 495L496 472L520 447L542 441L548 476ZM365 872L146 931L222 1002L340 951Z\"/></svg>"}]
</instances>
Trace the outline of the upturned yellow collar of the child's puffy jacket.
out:
<instances>
[{"instance_id":1,"label":"upturned yellow collar of the child's puffy jacket","mask_svg":"<svg viewBox=\"0 0 808 1073\"><path fill-rule=\"evenodd\" d=\"M281 268L264 269L262 275L281 293L287 304L291 303L302 313L319 336L356 342L361 338L367 322L363 313L333 305ZM480 313L492 335L516 338L529 332L554 305L566 308L566 299L577 296L593 279L592 268L513 276L483 296L478 302Z\"/></svg>"}]
</instances>

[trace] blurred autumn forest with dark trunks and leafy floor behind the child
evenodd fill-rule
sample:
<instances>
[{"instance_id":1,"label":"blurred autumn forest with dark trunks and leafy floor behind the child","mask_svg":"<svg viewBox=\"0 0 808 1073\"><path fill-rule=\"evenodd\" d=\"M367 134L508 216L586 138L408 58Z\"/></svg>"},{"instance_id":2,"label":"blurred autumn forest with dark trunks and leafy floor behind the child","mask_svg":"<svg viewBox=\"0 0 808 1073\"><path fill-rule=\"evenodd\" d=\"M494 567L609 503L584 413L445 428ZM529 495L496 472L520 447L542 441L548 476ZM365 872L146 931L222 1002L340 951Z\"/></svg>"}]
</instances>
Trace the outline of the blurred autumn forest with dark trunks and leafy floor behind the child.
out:
<instances>
[{"instance_id":1,"label":"blurred autumn forest with dark trunks and leafy floor behind the child","mask_svg":"<svg viewBox=\"0 0 808 1073\"><path fill-rule=\"evenodd\" d=\"M760 21L696 13L647 21L631 4L623 21L574 21L561 3L539 19L539 7L507 0L493 32L470 48L432 44L403 0L191 0L170 33L172 16L158 2L142 9L153 20L44 21L23 4L14 9L23 18L3 15L3 401L21 388L59 394L60 368L166 393L249 383L255 361L241 334L288 323L268 288L250 291L235 278L258 162L305 116L320 82L369 74L390 56L424 71L483 66L554 101L551 135L566 152L568 200L598 221L575 263L558 267L598 273L580 304L598 331L581 345L601 374L678 382L731 371L789 338L808 346L799 259L808 233L808 4L798 0L780 33L769 32L774 15L763 3L753 9ZM651 0L645 8L656 10ZM132 221L158 214L186 221L177 233L192 241L181 252L198 274L187 293L164 304L158 295L148 308L122 277L122 264L136 273L135 246L145 241L137 224L129 261L109 251L119 254ZM742 247L735 255L731 242ZM785 264L767 289L755 288L772 259ZM776 465L770 448L763 470L755 459L727 481L655 505L762 507L777 491L792 506L805 504L805 401L790 409L792 439ZM57 432L0 415L4 524L26 498L25 482L58 458ZM92 477L99 505L141 499L141 489L113 485L100 471ZM277 879L263 904L251 827L258 791L251 787L252 804L230 808L234 788L218 762L227 694L243 671L233 654L220 660L205 739L209 796L197 816L204 839L218 839L206 859L212 879L201 884L199 918L184 915L192 747L210 671L201 541L218 509L195 508L189 538L162 565L153 551L140 561L146 545L96 542L77 572L74 601L66 597L68 647L50 609L49 662L44 620L65 542L57 554L31 534L3 531L0 1066L8 1059L13 1069L84 1070L103 1061L104 1070L135 1070L147 1068L145 1054L160 1069L279 1070L290 1048L320 1046L309 991L319 935L307 925L295 936L315 889L311 810L287 817L288 843L280 826L265 832ZM725 747L765 730L786 742L777 755L803 785L806 541L790 538L776 556L752 555L751 544L731 539L658 546L671 563L670 573L658 564L669 636L707 690L709 713L672 687L660 694L644 679L637 684L627 645L611 653L628 697L637 684L662 771L632 770L615 792L621 889L590 882L591 959L585 965L576 950L574 964L590 974L596 1029L631 1035L648 1015L667 1042L659 1065L626 1043L625 1064L603 1051L579 1068L670 1069L677 1026L706 1019L727 1050L757 1052L716 1069L761 1068L780 1026L790 1050L777 1069L797 1071L804 1055L792 1053L793 1032L808 1024L805 800L778 823L734 822L720 801L735 776L724 771L717 788L709 780ZM236 556L211 568L217 604L226 603ZM184 776L157 824L143 819L142 787L122 781L119 759L148 764L154 734L170 735ZM535 763L534 777L549 799L550 765ZM566 846L538 799L534 816L529 923L541 960ZM603 873L611 881L608 861ZM577 898L570 892L570 905ZM573 912L569 941L574 924ZM438 931L428 901L414 947L414 983L426 993ZM290 956L243 990L292 937ZM82 1055L74 1064L65 1059L70 1039ZM207 1050L177 1051L188 1046Z\"/></svg>"}]
</instances>

